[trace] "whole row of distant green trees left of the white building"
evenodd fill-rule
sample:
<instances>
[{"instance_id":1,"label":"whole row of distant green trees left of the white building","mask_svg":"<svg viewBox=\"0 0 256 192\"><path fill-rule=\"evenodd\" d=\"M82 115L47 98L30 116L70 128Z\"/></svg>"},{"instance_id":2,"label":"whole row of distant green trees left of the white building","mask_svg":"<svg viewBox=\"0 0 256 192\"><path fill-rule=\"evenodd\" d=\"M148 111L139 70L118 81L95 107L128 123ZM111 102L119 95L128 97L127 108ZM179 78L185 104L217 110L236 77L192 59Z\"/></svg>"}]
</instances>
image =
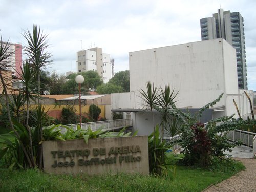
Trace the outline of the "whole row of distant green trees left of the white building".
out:
<instances>
[{"instance_id":1,"label":"whole row of distant green trees left of the white building","mask_svg":"<svg viewBox=\"0 0 256 192\"><path fill-rule=\"evenodd\" d=\"M64 76L53 71L40 74L42 89L49 90L50 95L77 94L79 93L75 77L82 75L84 82L81 84L81 92L93 90L98 94L130 92L129 70L120 71L115 74L108 83L103 83L99 74L95 71L72 73Z\"/></svg>"}]
</instances>

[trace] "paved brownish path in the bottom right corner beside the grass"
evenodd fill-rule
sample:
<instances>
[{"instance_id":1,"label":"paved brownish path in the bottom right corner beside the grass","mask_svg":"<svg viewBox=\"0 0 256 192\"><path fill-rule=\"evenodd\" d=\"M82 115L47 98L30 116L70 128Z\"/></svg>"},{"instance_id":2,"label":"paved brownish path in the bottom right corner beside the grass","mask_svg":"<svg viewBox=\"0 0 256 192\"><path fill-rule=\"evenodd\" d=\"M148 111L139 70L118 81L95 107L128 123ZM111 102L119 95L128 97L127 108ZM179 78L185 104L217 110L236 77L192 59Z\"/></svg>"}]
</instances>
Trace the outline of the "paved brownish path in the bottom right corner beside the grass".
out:
<instances>
[{"instance_id":1,"label":"paved brownish path in the bottom right corner beside the grass","mask_svg":"<svg viewBox=\"0 0 256 192\"><path fill-rule=\"evenodd\" d=\"M237 173L217 185L213 185L204 192L255 192L256 191L256 159L235 158L244 163L246 170Z\"/></svg>"}]
</instances>

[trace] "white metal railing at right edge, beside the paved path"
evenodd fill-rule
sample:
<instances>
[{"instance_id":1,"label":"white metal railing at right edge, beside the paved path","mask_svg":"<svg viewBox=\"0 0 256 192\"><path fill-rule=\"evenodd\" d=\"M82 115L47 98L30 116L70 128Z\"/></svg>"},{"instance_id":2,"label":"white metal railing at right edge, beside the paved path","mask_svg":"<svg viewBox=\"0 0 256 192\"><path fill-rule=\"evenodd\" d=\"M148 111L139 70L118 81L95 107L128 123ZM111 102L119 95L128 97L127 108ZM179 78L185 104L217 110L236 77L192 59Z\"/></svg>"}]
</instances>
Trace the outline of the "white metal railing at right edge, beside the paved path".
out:
<instances>
[{"instance_id":1,"label":"white metal railing at right edge, beside the paved path","mask_svg":"<svg viewBox=\"0 0 256 192\"><path fill-rule=\"evenodd\" d=\"M227 137L230 141L238 142L241 141L242 144L249 147L253 147L253 143L256 139L256 133L243 131L243 130L233 130L227 134ZM256 146L255 146L256 147ZM254 149L256 150L256 148Z\"/></svg>"}]
</instances>

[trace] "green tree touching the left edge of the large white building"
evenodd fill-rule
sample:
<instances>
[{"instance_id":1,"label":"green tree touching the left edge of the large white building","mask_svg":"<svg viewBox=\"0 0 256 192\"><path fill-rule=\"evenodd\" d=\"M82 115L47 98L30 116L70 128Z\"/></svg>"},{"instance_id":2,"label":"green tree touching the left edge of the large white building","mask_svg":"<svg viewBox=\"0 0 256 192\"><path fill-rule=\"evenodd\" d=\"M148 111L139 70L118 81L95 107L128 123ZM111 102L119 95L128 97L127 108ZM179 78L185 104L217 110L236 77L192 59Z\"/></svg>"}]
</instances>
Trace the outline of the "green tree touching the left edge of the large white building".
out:
<instances>
[{"instance_id":1,"label":"green tree touching the left edge of the large white building","mask_svg":"<svg viewBox=\"0 0 256 192\"><path fill-rule=\"evenodd\" d=\"M116 86L121 86L123 88L123 92L130 92L130 77L129 70L120 71L112 77L108 84L114 84ZM121 92L121 91L119 91Z\"/></svg>"}]
</instances>

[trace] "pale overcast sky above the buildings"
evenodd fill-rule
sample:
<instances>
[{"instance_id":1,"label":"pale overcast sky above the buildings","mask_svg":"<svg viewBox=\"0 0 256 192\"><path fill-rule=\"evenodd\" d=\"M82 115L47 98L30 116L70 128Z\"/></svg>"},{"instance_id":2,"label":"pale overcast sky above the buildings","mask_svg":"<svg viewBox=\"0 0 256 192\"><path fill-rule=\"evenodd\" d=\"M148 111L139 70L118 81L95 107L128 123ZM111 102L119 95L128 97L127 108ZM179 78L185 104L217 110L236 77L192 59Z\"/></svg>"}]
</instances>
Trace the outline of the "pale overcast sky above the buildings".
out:
<instances>
[{"instance_id":1,"label":"pale overcast sky above the buildings","mask_svg":"<svg viewBox=\"0 0 256 192\"><path fill-rule=\"evenodd\" d=\"M221 7L244 17L248 89L256 90L255 0L0 0L0 34L26 45L23 30L49 34L49 71L76 71L76 52L100 47L129 70L128 53L201 40L200 19Z\"/></svg>"}]
</instances>

